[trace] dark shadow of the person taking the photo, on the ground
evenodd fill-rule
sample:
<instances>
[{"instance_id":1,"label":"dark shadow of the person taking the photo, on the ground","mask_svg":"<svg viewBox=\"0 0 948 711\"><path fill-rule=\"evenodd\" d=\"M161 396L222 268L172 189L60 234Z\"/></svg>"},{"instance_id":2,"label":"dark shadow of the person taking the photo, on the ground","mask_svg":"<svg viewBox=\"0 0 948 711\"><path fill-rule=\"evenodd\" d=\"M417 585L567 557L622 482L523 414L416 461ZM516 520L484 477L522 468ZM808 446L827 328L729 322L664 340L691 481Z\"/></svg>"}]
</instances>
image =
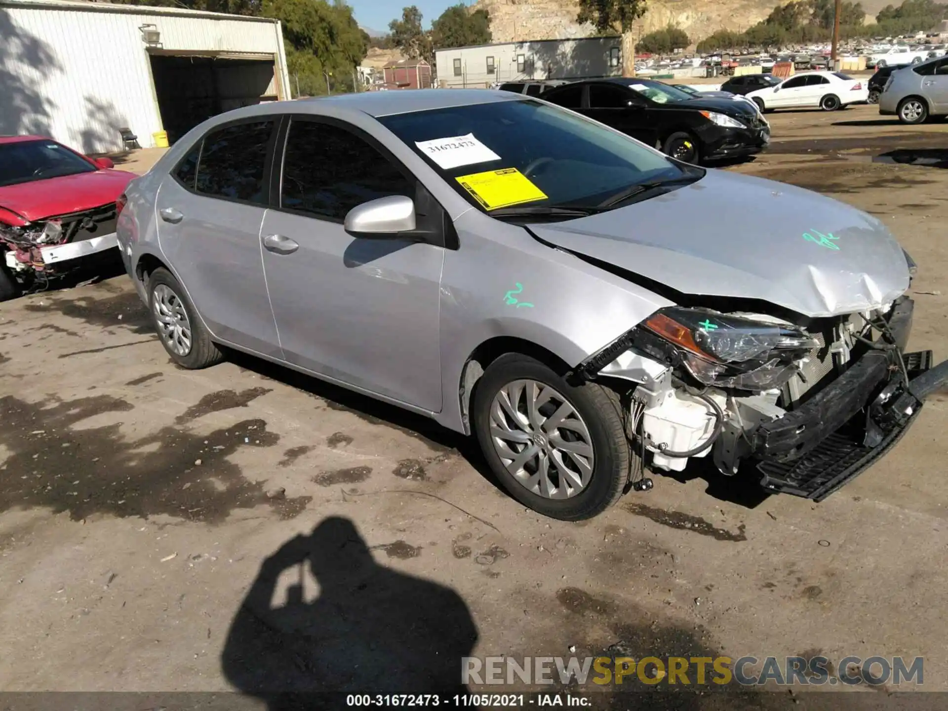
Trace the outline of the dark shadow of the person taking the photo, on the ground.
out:
<instances>
[{"instance_id":1,"label":"dark shadow of the person taking the photo, on the ground","mask_svg":"<svg viewBox=\"0 0 948 711\"><path fill-rule=\"evenodd\" d=\"M319 583L309 602L307 562ZM274 600L294 567L298 582ZM230 684L271 709L296 707L308 692L454 694L465 690L461 658L477 637L458 593L376 564L352 521L332 517L264 560L222 666Z\"/></svg>"}]
</instances>

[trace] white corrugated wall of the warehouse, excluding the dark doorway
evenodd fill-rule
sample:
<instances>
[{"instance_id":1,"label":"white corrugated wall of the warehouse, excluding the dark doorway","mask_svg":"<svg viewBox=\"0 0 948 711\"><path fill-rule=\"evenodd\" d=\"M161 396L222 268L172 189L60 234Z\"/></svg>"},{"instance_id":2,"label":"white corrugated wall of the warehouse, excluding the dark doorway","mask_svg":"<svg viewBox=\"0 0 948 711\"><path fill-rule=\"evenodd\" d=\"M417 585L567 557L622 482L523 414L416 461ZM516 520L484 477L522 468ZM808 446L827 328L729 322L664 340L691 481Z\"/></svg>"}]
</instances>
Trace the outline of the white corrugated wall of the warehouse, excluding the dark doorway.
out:
<instances>
[{"instance_id":1,"label":"white corrugated wall of the warehouse, excluding the dark doorway","mask_svg":"<svg viewBox=\"0 0 948 711\"><path fill-rule=\"evenodd\" d=\"M39 133L104 153L122 148L118 129L129 127L153 145L161 119L139 29L146 24L166 52L272 55L288 85L274 23L0 2L0 134Z\"/></svg>"}]
</instances>

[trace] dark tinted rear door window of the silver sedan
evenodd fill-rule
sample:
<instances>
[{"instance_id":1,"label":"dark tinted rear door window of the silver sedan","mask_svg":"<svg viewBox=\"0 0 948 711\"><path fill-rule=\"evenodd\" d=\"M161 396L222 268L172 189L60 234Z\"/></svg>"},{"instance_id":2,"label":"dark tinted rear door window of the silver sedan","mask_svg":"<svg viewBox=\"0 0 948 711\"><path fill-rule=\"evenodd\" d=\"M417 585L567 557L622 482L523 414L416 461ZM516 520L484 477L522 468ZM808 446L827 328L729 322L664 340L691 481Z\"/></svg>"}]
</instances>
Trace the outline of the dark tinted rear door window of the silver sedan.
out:
<instances>
[{"instance_id":1,"label":"dark tinted rear door window of the silver sedan","mask_svg":"<svg viewBox=\"0 0 948 711\"><path fill-rule=\"evenodd\" d=\"M263 205L264 165L273 121L237 123L204 139L194 189L205 195Z\"/></svg>"}]
</instances>

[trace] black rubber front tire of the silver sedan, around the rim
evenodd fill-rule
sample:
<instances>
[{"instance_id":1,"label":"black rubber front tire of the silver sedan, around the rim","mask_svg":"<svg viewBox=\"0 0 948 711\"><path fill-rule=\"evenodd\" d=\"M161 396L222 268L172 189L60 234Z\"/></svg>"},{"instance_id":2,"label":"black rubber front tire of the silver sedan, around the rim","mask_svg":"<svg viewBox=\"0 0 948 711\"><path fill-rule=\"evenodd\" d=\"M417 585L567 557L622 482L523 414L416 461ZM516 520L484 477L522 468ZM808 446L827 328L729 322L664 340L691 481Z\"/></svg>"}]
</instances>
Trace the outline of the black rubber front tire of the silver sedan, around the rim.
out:
<instances>
[{"instance_id":1,"label":"black rubber front tire of the silver sedan, around the rim","mask_svg":"<svg viewBox=\"0 0 948 711\"><path fill-rule=\"evenodd\" d=\"M491 405L498 392L516 380L534 380L552 387L586 425L593 447L593 471L588 483L569 499L549 499L529 490L507 471L494 446ZM535 358L508 354L491 363L477 382L472 415L474 431L491 470L514 499L539 514L559 520L591 519L622 496L629 476L630 453L622 408L614 392L594 383L570 385Z\"/></svg>"}]
</instances>

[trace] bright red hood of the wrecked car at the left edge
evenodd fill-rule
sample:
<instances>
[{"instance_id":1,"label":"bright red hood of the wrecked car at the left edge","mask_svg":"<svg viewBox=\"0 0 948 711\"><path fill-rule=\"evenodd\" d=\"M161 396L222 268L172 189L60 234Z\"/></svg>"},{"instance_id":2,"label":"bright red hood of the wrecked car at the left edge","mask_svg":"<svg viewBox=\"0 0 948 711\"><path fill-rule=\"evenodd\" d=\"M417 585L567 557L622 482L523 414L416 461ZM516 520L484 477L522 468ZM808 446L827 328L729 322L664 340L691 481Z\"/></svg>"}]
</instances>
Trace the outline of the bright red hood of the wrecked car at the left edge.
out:
<instances>
[{"instance_id":1,"label":"bright red hood of the wrecked car at the left edge","mask_svg":"<svg viewBox=\"0 0 948 711\"><path fill-rule=\"evenodd\" d=\"M6 185L0 188L0 209L15 212L27 222L90 210L115 202L136 177L128 171L101 170Z\"/></svg>"}]
</instances>

